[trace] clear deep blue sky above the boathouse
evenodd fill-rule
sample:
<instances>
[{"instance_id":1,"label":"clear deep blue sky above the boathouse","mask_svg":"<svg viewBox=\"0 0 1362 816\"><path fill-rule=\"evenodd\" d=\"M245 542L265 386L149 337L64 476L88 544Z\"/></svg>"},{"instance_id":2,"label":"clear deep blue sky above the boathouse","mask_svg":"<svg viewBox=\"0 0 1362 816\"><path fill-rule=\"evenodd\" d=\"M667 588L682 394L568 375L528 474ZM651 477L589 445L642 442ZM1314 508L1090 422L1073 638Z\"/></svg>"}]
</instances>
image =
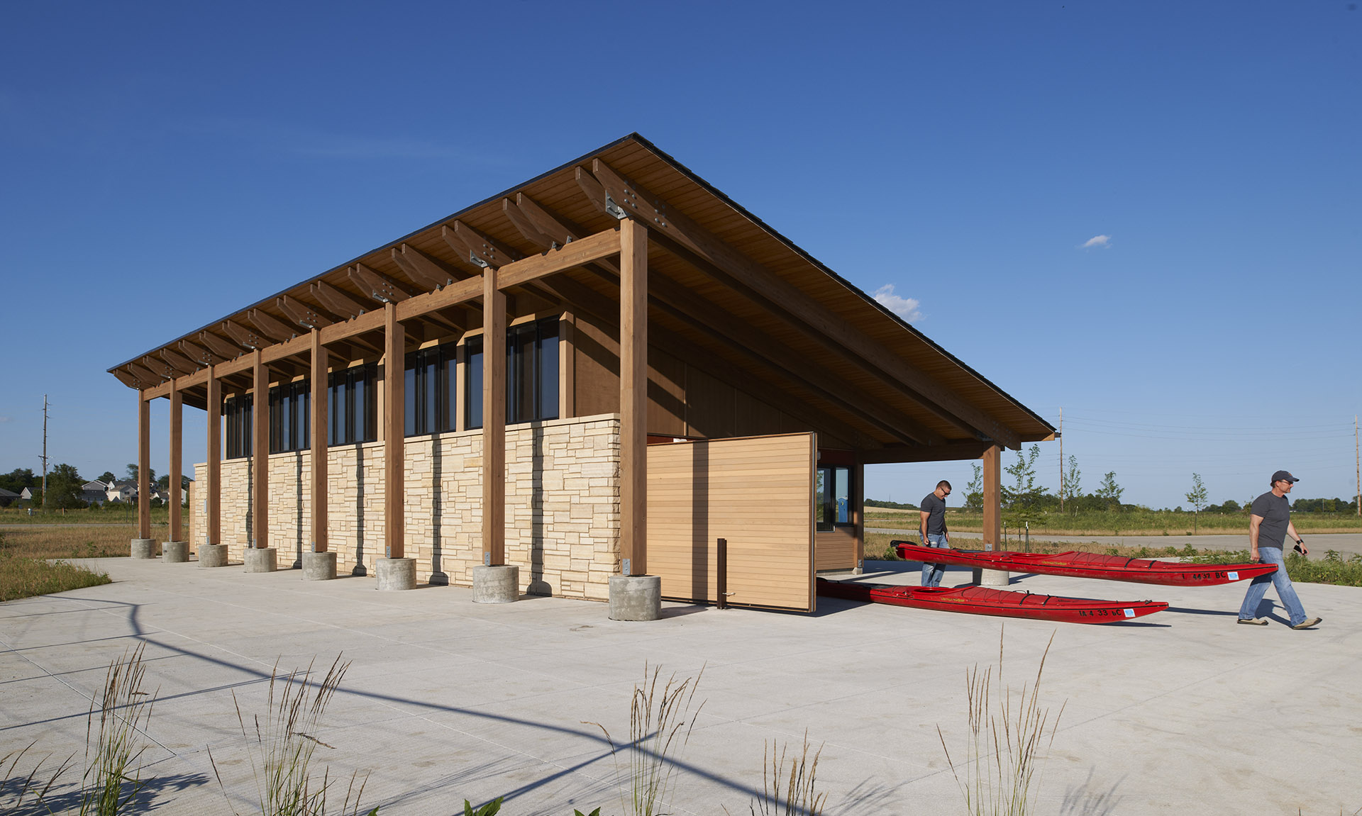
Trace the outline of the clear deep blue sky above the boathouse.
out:
<instances>
[{"instance_id":1,"label":"clear deep blue sky above the boathouse","mask_svg":"<svg viewBox=\"0 0 1362 816\"><path fill-rule=\"evenodd\" d=\"M1114 470L1126 500L1171 507L1196 471L1244 501L1286 467L1297 496L1355 492L1355 3L57 1L0 20L3 471L39 467L49 394L53 462L121 473L136 407L108 366L639 131L915 301L918 328L1051 422L1062 406L1086 489ZM1041 467L1054 488L1057 444ZM866 493L968 477L876 467Z\"/></svg>"}]
</instances>

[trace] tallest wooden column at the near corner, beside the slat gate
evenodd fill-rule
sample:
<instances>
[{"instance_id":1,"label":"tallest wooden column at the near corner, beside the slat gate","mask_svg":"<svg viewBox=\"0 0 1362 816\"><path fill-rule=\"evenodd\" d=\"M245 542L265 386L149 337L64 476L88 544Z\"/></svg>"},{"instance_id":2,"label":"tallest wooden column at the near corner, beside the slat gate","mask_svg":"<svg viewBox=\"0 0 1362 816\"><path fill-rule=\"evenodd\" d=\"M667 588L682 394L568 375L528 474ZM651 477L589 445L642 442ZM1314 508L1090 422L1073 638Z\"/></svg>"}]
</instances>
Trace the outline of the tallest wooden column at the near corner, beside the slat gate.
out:
<instances>
[{"instance_id":1,"label":"tallest wooden column at the near corner, beside the slat gate","mask_svg":"<svg viewBox=\"0 0 1362 816\"><path fill-rule=\"evenodd\" d=\"M620 222L620 571L648 572L648 230Z\"/></svg>"}]
</instances>

